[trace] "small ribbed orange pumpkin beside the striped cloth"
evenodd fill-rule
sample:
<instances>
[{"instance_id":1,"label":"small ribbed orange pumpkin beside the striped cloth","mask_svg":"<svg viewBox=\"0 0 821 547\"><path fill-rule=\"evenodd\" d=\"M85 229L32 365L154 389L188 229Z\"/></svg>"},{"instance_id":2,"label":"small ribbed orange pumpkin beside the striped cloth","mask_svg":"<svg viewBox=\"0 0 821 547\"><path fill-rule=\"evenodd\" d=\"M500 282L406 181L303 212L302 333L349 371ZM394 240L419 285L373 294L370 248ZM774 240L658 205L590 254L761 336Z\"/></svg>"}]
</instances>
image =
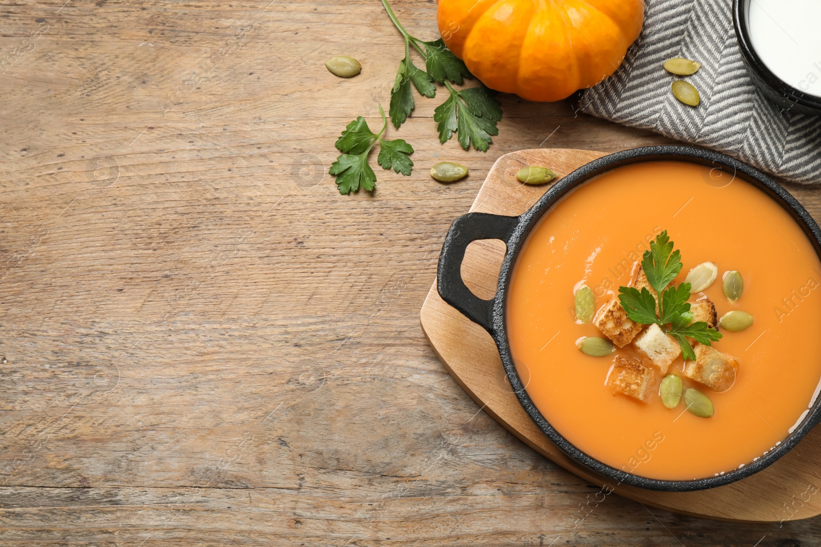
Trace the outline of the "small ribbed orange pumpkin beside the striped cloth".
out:
<instances>
[{"instance_id":1,"label":"small ribbed orange pumpkin beside the striped cloth","mask_svg":"<svg viewBox=\"0 0 821 547\"><path fill-rule=\"evenodd\" d=\"M644 0L439 0L439 33L487 85L557 101L616 71Z\"/></svg>"}]
</instances>

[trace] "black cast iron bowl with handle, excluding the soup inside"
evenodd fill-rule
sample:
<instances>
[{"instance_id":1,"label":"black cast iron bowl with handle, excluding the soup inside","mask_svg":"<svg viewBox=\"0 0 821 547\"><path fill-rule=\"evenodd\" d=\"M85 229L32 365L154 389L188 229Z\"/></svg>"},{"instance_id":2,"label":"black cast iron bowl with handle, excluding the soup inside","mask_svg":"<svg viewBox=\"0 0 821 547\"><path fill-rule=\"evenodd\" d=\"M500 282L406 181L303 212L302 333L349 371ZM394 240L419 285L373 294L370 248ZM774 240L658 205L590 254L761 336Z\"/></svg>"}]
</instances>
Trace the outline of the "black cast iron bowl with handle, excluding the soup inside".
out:
<instances>
[{"instance_id":1,"label":"black cast iron bowl with handle, excluding the soup inside","mask_svg":"<svg viewBox=\"0 0 821 547\"><path fill-rule=\"evenodd\" d=\"M559 180L551 189L548 189L548 192L520 217L503 217L484 212L471 212L457 218L447 232L442 254L439 255L437 288L445 302L459 310L471 321L483 326L493 336L499 355L502 357L502 365L505 372L507 372L507 378L510 380L521 405L530 414L536 425L544 431L544 434L548 435L548 438L568 456L590 470L599 473L599 475L610 477L620 483L649 490L673 492L704 490L739 481L761 471L764 467L768 467L778 458L781 458L782 455L787 454L808 431L821 421L821 398L816 400L804 421L781 444L756 461L746 463L741 469L693 481L659 481L624 472L621 469L599 462L599 460L576 448L574 444L553 429L550 422L534 406L525 390L525 386L522 385L513 364L510 346L507 341L507 321L505 317L507 287L511 280L511 272L516 264L519 250L522 244L525 243L530 229L536 225L539 218L548 212L559 198L596 175L618 166L659 160L678 160L709 166L711 171L709 171L709 176L705 175L707 177L705 184L727 185L735 178L750 182L791 214L814 245L815 252L821 256L821 230L819 230L819 226L813 218L810 217L810 213L806 212L805 208L801 207L796 198L793 198L786 189L783 189L781 185L778 185L761 171L732 157L700 148L650 146L613 153L581 166L576 171L566 175L562 180ZM477 239L502 239L507 244L507 253L499 273L497 293L490 300L479 299L470 292L470 289L461 279L461 262L465 258L465 250L470 242Z\"/></svg>"}]
</instances>

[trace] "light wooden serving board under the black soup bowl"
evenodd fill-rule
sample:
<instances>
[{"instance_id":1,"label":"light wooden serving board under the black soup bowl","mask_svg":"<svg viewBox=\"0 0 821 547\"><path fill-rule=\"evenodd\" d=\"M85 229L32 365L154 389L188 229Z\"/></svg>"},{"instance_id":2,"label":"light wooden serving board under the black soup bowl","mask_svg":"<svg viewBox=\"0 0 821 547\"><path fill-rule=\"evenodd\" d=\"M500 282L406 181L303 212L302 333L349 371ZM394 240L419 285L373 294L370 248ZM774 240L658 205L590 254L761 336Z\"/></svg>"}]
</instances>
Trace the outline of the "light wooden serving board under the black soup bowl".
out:
<instances>
[{"instance_id":1,"label":"light wooden serving board under the black soup bowl","mask_svg":"<svg viewBox=\"0 0 821 547\"><path fill-rule=\"evenodd\" d=\"M502 156L488 172L471 212L520 215L549 185L527 186L516 171L529 165L550 166L556 180L579 166L604 156L592 150L539 148ZM462 263L466 285L480 298L493 297L505 245L486 239L470 244ZM493 419L567 471L643 504L701 517L750 522L780 522L821 513L821 427L772 466L730 485L695 492L657 492L615 481L591 472L566 456L539 430L521 407L507 381L496 344L480 326L439 297L433 282L422 306L421 323L434 351L456 383ZM605 490L606 491L606 490Z\"/></svg>"}]
</instances>

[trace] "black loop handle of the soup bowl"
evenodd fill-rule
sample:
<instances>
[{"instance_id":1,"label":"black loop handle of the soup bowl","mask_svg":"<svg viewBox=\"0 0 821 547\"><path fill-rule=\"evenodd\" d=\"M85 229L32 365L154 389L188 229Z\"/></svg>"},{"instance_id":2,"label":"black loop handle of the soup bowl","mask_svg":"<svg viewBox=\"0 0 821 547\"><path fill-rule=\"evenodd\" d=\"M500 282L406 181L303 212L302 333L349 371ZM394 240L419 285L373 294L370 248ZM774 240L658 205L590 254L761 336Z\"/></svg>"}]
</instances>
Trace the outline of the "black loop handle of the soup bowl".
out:
<instances>
[{"instance_id":1,"label":"black loop handle of the soup bowl","mask_svg":"<svg viewBox=\"0 0 821 547\"><path fill-rule=\"evenodd\" d=\"M470 292L461 278L461 263L467 246L477 239L502 239L510 252L509 241L519 217L503 217L487 212L469 212L453 221L439 255L437 289L439 296L485 330L493 334L493 304L499 298L484 300Z\"/></svg>"}]
</instances>

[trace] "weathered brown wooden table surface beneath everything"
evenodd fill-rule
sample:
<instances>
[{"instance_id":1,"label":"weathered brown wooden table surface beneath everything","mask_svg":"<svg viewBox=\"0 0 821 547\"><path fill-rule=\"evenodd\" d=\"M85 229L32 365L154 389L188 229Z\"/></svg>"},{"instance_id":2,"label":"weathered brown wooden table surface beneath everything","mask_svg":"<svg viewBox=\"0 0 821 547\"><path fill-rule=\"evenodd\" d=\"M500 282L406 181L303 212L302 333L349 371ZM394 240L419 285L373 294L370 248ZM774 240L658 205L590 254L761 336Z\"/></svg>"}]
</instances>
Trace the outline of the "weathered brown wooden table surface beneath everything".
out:
<instances>
[{"instance_id":1,"label":"weathered brown wooden table surface beneath everything","mask_svg":"<svg viewBox=\"0 0 821 547\"><path fill-rule=\"evenodd\" d=\"M393 3L433 39L435 2ZM817 543L821 519L585 513L597 489L482 412L420 329L497 157L669 140L505 95L467 153L417 96L389 130L414 175L340 196L333 142L376 124L402 55L375 0L16 2L0 34L0 545ZM362 74L330 75L340 53ZM431 180L445 159L469 178Z\"/></svg>"}]
</instances>

